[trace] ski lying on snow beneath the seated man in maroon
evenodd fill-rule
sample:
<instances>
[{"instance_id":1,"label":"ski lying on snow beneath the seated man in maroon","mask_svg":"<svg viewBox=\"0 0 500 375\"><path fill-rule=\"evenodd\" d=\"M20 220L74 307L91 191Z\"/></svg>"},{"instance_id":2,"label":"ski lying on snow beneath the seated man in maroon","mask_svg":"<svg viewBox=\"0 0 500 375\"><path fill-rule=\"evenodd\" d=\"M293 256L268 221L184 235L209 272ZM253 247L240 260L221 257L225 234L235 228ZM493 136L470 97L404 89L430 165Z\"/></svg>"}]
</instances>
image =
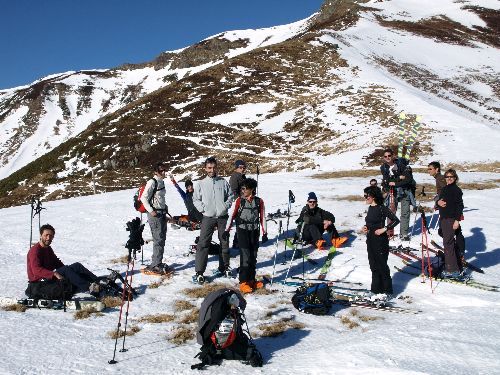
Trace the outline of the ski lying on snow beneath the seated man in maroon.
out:
<instances>
[{"instance_id":1,"label":"ski lying on snow beneath the seated man in maroon","mask_svg":"<svg viewBox=\"0 0 500 375\"><path fill-rule=\"evenodd\" d=\"M14 297L0 297L0 305L14 305L19 304L29 308L39 308L39 309L53 309L62 310L66 304L66 309L68 310L85 310L94 308L97 311L102 311L106 308L106 305L101 301L97 300L85 300L85 299L72 299L68 301L62 300L51 300L51 299L33 299L33 298L14 298Z\"/></svg>"}]
</instances>

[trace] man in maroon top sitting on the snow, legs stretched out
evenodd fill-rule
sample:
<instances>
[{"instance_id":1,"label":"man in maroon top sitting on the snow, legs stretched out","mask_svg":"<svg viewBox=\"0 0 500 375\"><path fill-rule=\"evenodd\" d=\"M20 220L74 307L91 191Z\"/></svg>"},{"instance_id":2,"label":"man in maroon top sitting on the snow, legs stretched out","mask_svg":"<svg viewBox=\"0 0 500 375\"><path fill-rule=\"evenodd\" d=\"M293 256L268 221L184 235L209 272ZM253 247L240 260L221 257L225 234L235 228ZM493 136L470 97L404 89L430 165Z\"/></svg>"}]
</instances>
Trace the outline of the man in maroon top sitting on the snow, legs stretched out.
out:
<instances>
[{"instance_id":1,"label":"man in maroon top sitting on the snow, legs stretched out","mask_svg":"<svg viewBox=\"0 0 500 375\"><path fill-rule=\"evenodd\" d=\"M56 231L50 224L40 227L40 241L28 251L27 270L30 287L37 284L37 290L43 289L43 283L54 284L55 280L67 280L72 285L73 293L90 292L99 294L98 277L80 263L65 266L50 247ZM40 284L42 283L42 284ZM31 289L28 287L26 291Z\"/></svg>"}]
</instances>

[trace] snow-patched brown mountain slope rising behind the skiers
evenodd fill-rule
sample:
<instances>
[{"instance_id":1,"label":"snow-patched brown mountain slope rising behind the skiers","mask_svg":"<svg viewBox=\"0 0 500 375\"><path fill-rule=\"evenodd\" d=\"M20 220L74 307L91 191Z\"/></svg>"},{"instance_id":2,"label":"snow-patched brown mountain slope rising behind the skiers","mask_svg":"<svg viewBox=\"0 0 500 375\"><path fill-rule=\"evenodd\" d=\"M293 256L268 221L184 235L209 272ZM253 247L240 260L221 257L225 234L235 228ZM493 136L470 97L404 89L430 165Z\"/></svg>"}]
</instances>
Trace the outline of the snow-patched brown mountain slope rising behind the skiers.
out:
<instances>
[{"instance_id":1,"label":"snow-patched brown mountain slope rising behind the skiers","mask_svg":"<svg viewBox=\"0 0 500 375\"><path fill-rule=\"evenodd\" d=\"M327 0L290 25L231 31L151 63L0 92L0 206L136 186L164 160L262 172L362 168L424 118L414 163L496 162L500 10L492 0ZM13 173L12 173L13 172ZM12 174L11 174L12 173ZM8 176L8 177L7 177Z\"/></svg>"}]
</instances>

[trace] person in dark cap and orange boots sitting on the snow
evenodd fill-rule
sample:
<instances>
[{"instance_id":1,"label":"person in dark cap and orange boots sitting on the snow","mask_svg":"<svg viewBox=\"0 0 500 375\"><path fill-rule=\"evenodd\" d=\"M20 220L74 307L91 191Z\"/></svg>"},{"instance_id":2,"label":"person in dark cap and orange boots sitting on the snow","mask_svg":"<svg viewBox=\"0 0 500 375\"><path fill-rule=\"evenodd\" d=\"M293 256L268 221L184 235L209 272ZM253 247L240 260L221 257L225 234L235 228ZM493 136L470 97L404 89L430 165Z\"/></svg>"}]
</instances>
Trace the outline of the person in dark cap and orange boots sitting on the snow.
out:
<instances>
[{"instance_id":1,"label":"person in dark cap and orange boots sitting on the snow","mask_svg":"<svg viewBox=\"0 0 500 375\"><path fill-rule=\"evenodd\" d=\"M297 238L314 244L318 249L321 249L325 243L325 240L323 240L323 233L325 231L330 233L332 245L335 247L340 246L347 239L346 237L339 236L337 228L334 225L335 216L331 212L318 207L318 198L314 192L310 192L307 196L307 204L295 222L299 224L297 227Z\"/></svg>"}]
</instances>

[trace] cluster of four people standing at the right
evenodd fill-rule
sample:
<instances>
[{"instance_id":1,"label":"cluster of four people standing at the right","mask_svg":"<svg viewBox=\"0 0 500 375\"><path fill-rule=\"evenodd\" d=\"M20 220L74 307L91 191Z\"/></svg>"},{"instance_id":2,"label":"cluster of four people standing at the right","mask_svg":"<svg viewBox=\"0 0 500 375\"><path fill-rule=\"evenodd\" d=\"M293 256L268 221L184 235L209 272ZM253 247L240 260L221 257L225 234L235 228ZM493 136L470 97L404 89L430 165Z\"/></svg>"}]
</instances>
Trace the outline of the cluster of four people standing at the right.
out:
<instances>
[{"instance_id":1,"label":"cluster of four people standing at the right","mask_svg":"<svg viewBox=\"0 0 500 375\"><path fill-rule=\"evenodd\" d=\"M435 178L435 209L439 211L439 231L443 237L444 264L436 268L440 277L460 279L463 276L462 259L465 253L465 239L460 221L463 220L464 204L462 190L457 186L458 175L448 169L444 176L437 161L428 164L428 173ZM389 256L389 235L400 224L400 238L409 240L410 206L416 207L415 187L411 167L404 158L395 158L392 150L384 151L384 163L380 167L382 189L376 179L370 180L364 189L364 198L369 205L362 232L366 234L368 261L372 272L371 292L393 293L392 279L387 265ZM401 203L401 220L395 215ZM442 268L442 269L441 269Z\"/></svg>"}]
</instances>

